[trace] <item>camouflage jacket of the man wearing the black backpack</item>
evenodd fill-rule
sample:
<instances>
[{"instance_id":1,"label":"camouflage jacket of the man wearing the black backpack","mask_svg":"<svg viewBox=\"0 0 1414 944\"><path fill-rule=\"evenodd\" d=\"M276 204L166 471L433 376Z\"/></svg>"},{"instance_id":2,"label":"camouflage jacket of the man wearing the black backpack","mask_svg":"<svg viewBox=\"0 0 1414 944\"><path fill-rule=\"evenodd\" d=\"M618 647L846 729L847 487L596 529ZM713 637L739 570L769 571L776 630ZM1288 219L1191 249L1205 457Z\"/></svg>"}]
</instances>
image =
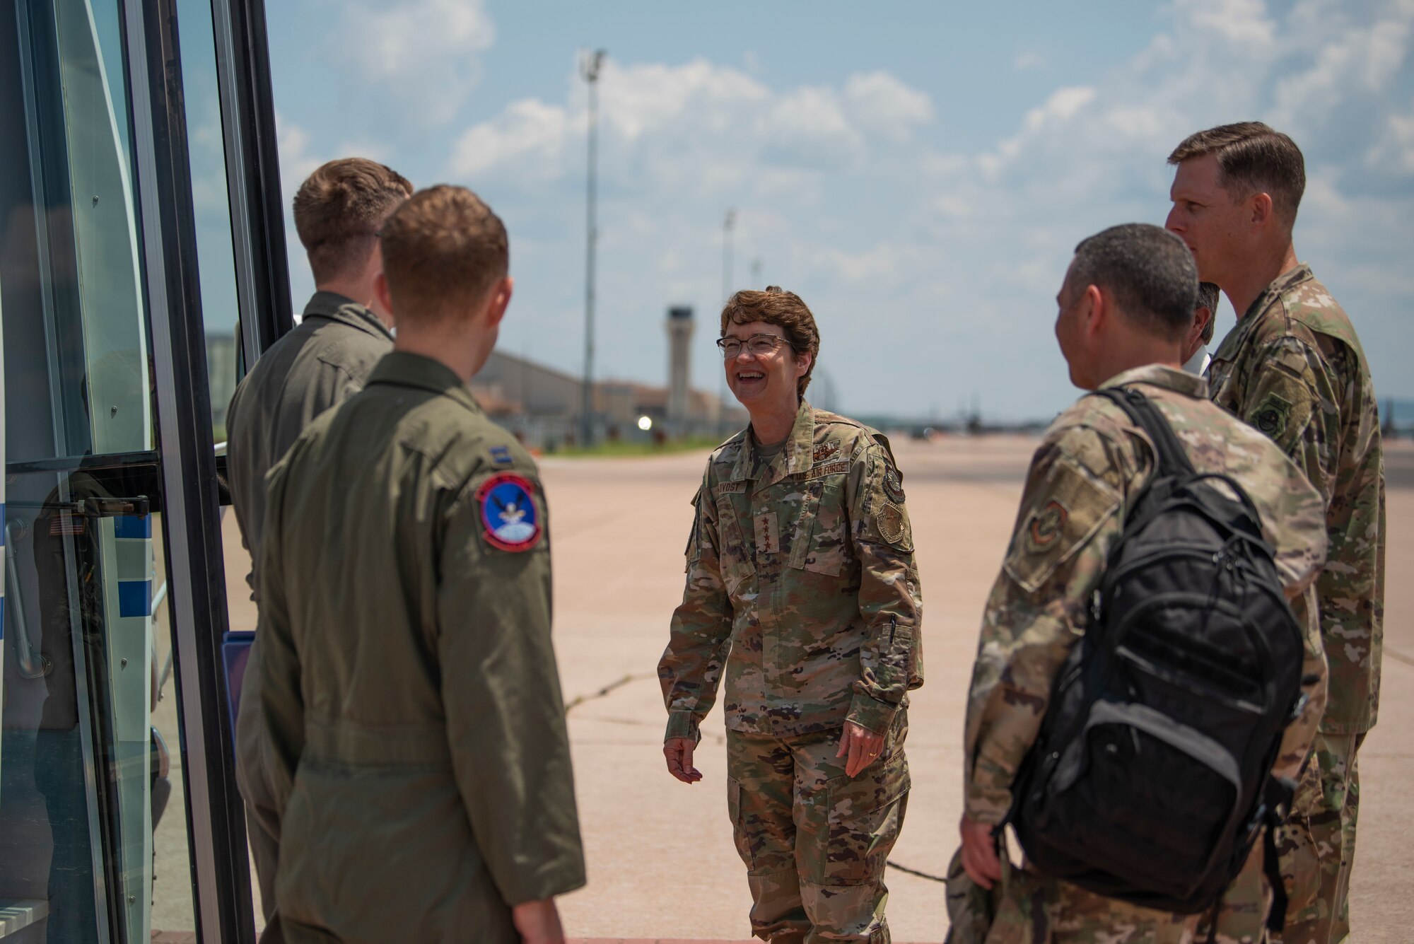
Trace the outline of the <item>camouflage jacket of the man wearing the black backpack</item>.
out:
<instances>
[{"instance_id":1,"label":"camouflage jacket of the man wearing the black backpack","mask_svg":"<svg viewBox=\"0 0 1414 944\"><path fill-rule=\"evenodd\" d=\"M1302 674L1318 680L1305 687L1311 701L1287 728L1277 765L1280 776L1295 777L1325 704L1311 592L1325 561L1321 496L1266 437L1208 403L1202 377L1151 365L1103 386L1135 384L1199 472L1223 472L1243 485L1277 550L1287 598L1308 627ZM1085 633L1110 548L1152 469L1148 435L1104 397L1082 397L1046 430L983 615L963 736L971 820L1000 822L1011 806L1011 783L1041 728L1052 683Z\"/></svg>"}]
</instances>

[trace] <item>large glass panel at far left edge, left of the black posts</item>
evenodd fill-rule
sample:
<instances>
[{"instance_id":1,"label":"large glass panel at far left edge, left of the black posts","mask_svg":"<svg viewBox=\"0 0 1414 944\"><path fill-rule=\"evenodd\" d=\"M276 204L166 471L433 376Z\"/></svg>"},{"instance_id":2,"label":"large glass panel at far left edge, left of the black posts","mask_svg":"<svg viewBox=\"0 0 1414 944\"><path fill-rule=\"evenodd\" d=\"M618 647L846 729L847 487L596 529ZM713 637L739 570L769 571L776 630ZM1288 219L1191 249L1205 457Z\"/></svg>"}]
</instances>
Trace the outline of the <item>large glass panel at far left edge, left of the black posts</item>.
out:
<instances>
[{"instance_id":1,"label":"large glass panel at far left edge, left of the black posts","mask_svg":"<svg viewBox=\"0 0 1414 944\"><path fill-rule=\"evenodd\" d=\"M154 445L117 24L116 0L0 11L0 900L27 940L148 940L154 828L182 820L153 726L156 454L98 459ZM185 845L157 859L194 927Z\"/></svg>"}]
</instances>

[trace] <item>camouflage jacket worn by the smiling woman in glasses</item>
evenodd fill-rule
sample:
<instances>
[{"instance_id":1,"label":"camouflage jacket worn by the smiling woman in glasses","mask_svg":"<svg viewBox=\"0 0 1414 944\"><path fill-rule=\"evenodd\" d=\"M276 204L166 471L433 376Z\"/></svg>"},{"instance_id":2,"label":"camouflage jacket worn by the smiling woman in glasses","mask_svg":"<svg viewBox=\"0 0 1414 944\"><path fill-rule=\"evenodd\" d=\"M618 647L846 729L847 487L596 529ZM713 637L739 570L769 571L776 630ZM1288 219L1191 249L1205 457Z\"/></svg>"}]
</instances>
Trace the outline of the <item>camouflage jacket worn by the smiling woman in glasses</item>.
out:
<instances>
[{"instance_id":1,"label":"camouflage jacket worn by the smiling woman in glasses","mask_svg":"<svg viewBox=\"0 0 1414 944\"><path fill-rule=\"evenodd\" d=\"M888 731L923 684L913 536L888 439L802 401L769 461L749 428L718 447L693 502L687 586L658 666L666 736L700 736L723 666L732 731L792 736L846 718Z\"/></svg>"}]
</instances>

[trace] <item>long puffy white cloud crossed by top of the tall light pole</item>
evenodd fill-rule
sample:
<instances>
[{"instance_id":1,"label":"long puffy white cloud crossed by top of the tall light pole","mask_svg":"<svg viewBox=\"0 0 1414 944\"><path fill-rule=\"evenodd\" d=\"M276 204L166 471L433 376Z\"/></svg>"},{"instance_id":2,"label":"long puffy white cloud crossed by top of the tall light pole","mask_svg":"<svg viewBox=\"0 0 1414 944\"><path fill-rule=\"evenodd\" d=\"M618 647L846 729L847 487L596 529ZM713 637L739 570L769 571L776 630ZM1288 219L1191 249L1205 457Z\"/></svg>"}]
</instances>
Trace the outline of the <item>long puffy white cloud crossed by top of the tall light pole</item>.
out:
<instances>
[{"instance_id":1,"label":"long puffy white cloud crossed by top of the tall light pole","mask_svg":"<svg viewBox=\"0 0 1414 944\"><path fill-rule=\"evenodd\" d=\"M587 99L578 76L568 81L564 105L522 99L462 131L448 170L520 187L581 172ZM858 167L875 146L908 141L932 116L926 95L885 72L773 92L706 59L609 59L600 78L604 174L635 187L809 189L820 172Z\"/></svg>"}]
</instances>

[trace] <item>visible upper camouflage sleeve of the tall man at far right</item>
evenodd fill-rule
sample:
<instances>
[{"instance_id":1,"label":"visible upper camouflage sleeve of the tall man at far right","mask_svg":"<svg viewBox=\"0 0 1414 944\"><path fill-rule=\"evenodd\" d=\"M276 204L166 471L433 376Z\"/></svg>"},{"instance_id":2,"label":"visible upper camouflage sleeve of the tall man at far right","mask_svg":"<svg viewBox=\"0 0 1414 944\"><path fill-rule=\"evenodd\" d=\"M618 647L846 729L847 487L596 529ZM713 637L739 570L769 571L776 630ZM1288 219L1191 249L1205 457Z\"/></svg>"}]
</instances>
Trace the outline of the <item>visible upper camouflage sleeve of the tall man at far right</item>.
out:
<instances>
[{"instance_id":1,"label":"visible upper camouflage sleeve of the tall man at far right","mask_svg":"<svg viewBox=\"0 0 1414 944\"><path fill-rule=\"evenodd\" d=\"M1340 379L1291 335L1267 343L1253 365L1239 417L1275 442L1329 505L1340 465Z\"/></svg>"}]
</instances>

